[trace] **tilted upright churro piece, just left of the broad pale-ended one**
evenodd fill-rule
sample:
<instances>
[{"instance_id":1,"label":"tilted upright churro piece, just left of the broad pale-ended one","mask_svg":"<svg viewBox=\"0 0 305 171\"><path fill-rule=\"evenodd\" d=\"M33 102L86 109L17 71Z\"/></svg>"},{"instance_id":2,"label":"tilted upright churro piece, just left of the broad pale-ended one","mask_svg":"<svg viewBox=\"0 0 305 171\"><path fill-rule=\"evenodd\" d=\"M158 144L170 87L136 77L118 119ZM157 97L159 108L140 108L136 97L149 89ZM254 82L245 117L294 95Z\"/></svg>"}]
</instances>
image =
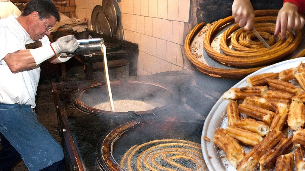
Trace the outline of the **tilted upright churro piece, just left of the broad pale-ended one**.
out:
<instances>
[{"instance_id":1,"label":"tilted upright churro piece, just left of the broad pale-ended one","mask_svg":"<svg viewBox=\"0 0 305 171\"><path fill-rule=\"evenodd\" d=\"M278 108L269 127L270 131L282 131L288 117L288 111L285 107Z\"/></svg>"}]
</instances>

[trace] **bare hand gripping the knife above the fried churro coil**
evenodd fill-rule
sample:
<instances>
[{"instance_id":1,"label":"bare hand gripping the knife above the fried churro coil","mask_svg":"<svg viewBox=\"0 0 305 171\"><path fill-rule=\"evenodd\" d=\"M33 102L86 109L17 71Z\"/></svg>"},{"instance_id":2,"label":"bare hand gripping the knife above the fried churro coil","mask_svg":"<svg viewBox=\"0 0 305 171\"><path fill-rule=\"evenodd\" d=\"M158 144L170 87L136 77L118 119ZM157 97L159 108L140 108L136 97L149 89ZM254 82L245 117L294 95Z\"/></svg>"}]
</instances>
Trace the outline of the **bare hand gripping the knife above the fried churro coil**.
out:
<instances>
[{"instance_id":1,"label":"bare hand gripping the knife above the fried churro coil","mask_svg":"<svg viewBox=\"0 0 305 171\"><path fill-rule=\"evenodd\" d=\"M232 16L235 23L249 31L254 25L254 10L250 0L234 0L232 5Z\"/></svg>"}]
</instances>

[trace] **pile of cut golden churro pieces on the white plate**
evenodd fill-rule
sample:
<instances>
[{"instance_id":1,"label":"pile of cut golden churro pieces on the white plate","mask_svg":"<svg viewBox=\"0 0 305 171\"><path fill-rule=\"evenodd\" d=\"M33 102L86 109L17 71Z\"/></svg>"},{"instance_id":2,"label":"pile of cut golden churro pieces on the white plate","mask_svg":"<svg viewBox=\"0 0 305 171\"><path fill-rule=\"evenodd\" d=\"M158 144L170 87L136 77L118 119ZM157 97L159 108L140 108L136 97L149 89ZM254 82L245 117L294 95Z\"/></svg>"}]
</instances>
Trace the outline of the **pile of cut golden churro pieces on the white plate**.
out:
<instances>
[{"instance_id":1,"label":"pile of cut golden churro pieces on the white plate","mask_svg":"<svg viewBox=\"0 0 305 171\"><path fill-rule=\"evenodd\" d=\"M305 170L305 63L246 84L223 94L228 127L216 129L215 145L238 171ZM245 153L243 145L253 148Z\"/></svg>"}]
</instances>

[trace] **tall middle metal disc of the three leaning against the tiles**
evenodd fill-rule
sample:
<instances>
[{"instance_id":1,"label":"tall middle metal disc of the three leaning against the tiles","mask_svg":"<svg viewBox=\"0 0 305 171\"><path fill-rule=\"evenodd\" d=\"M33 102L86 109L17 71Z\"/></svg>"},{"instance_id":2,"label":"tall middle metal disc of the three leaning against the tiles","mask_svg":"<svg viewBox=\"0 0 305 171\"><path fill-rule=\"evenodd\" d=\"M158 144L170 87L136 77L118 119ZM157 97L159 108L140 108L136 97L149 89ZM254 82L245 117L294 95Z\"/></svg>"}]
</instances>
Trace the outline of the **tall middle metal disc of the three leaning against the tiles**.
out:
<instances>
[{"instance_id":1,"label":"tall middle metal disc of the three leaning against the tiles","mask_svg":"<svg viewBox=\"0 0 305 171\"><path fill-rule=\"evenodd\" d=\"M117 31L117 14L112 0L103 0L102 11L108 19L112 35Z\"/></svg>"}]
</instances>

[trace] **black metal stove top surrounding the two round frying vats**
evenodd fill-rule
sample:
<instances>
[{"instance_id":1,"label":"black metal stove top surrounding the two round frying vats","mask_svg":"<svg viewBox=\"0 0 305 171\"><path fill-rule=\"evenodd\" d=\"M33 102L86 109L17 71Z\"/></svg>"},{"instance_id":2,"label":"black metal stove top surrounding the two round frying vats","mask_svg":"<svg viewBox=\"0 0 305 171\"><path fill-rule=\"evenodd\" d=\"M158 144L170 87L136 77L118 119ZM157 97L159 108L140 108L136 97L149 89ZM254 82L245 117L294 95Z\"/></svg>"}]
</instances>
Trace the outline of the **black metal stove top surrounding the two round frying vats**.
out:
<instances>
[{"instance_id":1,"label":"black metal stove top surrounding the two round frying vats","mask_svg":"<svg viewBox=\"0 0 305 171\"><path fill-rule=\"evenodd\" d=\"M199 86L195 86L191 83L194 82L194 76L185 72L165 72L155 75L125 77L122 80L155 82L178 92L179 103L177 106L157 111L150 117L152 117L152 120L154 118L161 120L163 118L170 118L170 120L187 122L195 120L196 124L190 122L188 125L189 127L194 127L192 129L197 131L189 134L186 140L200 144L201 130L205 117L222 93L227 90L227 87L234 85L237 81L230 82L211 78L207 75L199 76L203 77L200 80L205 79L208 82L198 82ZM102 117L99 114L86 113L74 106L73 101L77 91L99 82L101 81L88 80L52 83L52 91L58 113L61 144L65 151L66 168L68 169L110 170L100 156L104 138L120 125L124 125L132 120L142 120L142 118L145 120L146 116L144 115L130 118ZM156 124L149 127L159 126ZM166 132L162 133L160 131L160 134L166 134ZM121 158L122 155L119 154L118 158Z\"/></svg>"}]
</instances>

